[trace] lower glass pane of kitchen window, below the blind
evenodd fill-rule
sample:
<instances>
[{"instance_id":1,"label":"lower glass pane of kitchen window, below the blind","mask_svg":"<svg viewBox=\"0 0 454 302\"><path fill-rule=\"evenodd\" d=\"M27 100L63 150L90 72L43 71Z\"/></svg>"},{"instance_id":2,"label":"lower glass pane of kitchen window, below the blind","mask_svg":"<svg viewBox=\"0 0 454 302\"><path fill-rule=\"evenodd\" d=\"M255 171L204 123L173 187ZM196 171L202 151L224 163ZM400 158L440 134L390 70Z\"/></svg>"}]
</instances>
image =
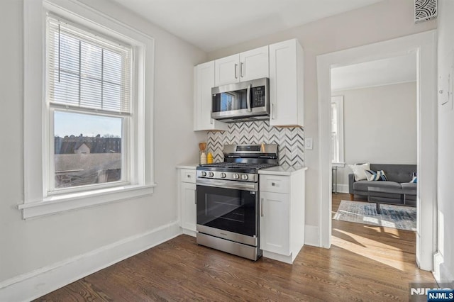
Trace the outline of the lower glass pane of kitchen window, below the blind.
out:
<instances>
[{"instance_id":1,"label":"lower glass pane of kitchen window, below the blind","mask_svg":"<svg viewBox=\"0 0 454 302\"><path fill-rule=\"evenodd\" d=\"M50 191L127 180L123 118L55 110L53 121Z\"/></svg>"}]
</instances>

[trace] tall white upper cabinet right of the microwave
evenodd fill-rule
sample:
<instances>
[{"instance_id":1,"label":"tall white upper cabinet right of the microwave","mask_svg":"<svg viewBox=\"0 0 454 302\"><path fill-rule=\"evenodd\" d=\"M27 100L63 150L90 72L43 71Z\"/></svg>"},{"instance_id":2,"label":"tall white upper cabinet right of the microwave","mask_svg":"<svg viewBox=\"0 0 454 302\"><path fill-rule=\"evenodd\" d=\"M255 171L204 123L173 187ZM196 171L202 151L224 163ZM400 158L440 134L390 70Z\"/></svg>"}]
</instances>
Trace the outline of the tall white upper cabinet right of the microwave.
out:
<instances>
[{"instance_id":1,"label":"tall white upper cabinet right of the microwave","mask_svg":"<svg viewBox=\"0 0 454 302\"><path fill-rule=\"evenodd\" d=\"M303 60L296 39L270 45L270 125L304 126Z\"/></svg>"}]
</instances>

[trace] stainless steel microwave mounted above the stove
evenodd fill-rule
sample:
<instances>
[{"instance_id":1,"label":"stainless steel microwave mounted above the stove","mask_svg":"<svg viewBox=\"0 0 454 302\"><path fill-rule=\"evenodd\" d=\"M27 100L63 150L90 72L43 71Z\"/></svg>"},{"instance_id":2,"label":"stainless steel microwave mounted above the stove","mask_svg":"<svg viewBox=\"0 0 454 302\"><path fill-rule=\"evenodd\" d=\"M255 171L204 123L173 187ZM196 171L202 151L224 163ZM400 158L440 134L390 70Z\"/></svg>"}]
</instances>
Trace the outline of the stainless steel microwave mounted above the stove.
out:
<instances>
[{"instance_id":1,"label":"stainless steel microwave mounted above the stove","mask_svg":"<svg viewBox=\"0 0 454 302\"><path fill-rule=\"evenodd\" d=\"M227 123L270 119L270 79L254 79L211 89L211 118Z\"/></svg>"}]
</instances>

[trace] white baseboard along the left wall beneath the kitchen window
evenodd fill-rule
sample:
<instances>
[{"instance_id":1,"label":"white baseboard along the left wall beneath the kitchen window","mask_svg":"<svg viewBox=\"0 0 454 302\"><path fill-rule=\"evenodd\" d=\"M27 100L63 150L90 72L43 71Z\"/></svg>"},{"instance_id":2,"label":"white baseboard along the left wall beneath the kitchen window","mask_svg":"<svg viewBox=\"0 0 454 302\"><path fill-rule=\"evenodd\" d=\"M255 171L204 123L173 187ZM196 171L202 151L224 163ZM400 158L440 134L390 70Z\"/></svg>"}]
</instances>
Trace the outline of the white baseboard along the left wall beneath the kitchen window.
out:
<instances>
[{"instance_id":1,"label":"white baseboard along the left wall beneath the kitchen window","mask_svg":"<svg viewBox=\"0 0 454 302\"><path fill-rule=\"evenodd\" d=\"M31 301L182 233L177 222L0 283L0 301Z\"/></svg>"}]
</instances>

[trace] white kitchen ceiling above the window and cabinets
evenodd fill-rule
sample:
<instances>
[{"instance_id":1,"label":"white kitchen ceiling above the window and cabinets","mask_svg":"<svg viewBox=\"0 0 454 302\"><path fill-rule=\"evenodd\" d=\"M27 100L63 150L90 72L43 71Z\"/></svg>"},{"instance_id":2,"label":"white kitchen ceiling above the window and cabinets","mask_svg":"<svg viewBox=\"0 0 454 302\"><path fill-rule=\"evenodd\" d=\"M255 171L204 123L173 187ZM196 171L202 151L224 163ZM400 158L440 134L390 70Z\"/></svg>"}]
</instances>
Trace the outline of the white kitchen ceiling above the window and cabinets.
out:
<instances>
[{"instance_id":1,"label":"white kitchen ceiling above the window and cabinets","mask_svg":"<svg viewBox=\"0 0 454 302\"><path fill-rule=\"evenodd\" d=\"M382 0L112 0L210 52Z\"/></svg>"}]
</instances>

